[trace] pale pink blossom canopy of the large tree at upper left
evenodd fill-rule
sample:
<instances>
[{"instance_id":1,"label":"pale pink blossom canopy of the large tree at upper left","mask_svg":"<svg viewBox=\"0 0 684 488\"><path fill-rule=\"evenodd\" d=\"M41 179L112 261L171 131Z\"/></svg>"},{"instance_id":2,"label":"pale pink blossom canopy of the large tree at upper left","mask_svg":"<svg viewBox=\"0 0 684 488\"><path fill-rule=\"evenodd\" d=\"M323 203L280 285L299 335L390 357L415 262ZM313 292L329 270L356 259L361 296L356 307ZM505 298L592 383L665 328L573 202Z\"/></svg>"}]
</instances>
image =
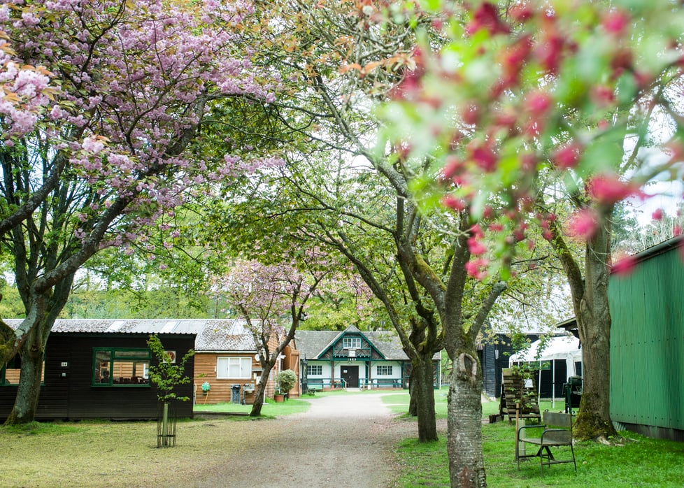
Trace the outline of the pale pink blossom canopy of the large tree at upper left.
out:
<instances>
[{"instance_id":1,"label":"pale pink blossom canopy of the large tree at upper left","mask_svg":"<svg viewBox=\"0 0 684 488\"><path fill-rule=\"evenodd\" d=\"M5 142L38 129L48 152L69 159L73 184L92 195L88 208L73 209L82 224L76 238L108 222L102 245L126 245L208 182L281 164L197 159L185 150L213 100L269 103L278 91L278 76L252 65L241 38L249 1L15 3L13 15L0 6L0 30L22 53L1 51ZM114 209L120 215L112 217Z\"/></svg>"}]
</instances>

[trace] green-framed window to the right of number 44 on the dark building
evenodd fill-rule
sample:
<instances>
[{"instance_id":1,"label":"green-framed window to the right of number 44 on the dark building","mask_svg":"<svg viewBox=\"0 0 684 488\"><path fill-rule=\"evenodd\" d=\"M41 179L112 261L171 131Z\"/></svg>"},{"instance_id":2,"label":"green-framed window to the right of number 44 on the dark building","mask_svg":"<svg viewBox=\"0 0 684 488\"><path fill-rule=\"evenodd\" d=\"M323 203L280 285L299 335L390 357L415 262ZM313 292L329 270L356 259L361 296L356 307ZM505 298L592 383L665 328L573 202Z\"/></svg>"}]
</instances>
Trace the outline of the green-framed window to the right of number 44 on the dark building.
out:
<instances>
[{"instance_id":1,"label":"green-framed window to the right of number 44 on the dark building","mask_svg":"<svg viewBox=\"0 0 684 488\"><path fill-rule=\"evenodd\" d=\"M92 386L149 387L149 349L93 347Z\"/></svg>"}]
</instances>

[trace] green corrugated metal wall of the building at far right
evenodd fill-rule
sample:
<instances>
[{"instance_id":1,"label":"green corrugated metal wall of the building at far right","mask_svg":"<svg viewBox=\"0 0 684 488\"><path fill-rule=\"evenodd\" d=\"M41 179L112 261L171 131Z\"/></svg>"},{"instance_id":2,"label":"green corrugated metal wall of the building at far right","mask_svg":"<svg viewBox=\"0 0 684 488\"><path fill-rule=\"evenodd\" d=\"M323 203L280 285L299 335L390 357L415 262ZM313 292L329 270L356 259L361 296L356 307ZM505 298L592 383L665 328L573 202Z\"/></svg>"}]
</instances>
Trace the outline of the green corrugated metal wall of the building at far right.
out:
<instances>
[{"instance_id":1,"label":"green corrugated metal wall of the building at far right","mask_svg":"<svg viewBox=\"0 0 684 488\"><path fill-rule=\"evenodd\" d=\"M684 429L684 263L678 249L611 276L611 418Z\"/></svg>"}]
</instances>

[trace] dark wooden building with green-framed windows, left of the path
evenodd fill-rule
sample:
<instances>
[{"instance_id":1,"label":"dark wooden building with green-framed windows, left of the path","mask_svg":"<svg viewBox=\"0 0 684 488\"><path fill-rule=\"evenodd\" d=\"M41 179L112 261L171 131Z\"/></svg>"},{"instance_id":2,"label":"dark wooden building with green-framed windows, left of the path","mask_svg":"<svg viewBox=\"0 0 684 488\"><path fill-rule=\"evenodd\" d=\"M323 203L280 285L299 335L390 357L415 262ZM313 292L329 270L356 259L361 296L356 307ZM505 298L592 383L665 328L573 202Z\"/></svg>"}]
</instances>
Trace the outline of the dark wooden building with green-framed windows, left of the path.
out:
<instances>
[{"instance_id":1,"label":"dark wooden building with green-framed windows, left of the path","mask_svg":"<svg viewBox=\"0 0 684 488\"><path fill-rule=\"evenodd\" d=\"M21 321L6 322L16 327ZM196 336L192 329L179 330L178 321L57 320L45 349L36 419L157 418L157 389L148 374L155 363L147 347L151 334L179 359ZM185 370L190 378L193 367L191 358ZM0 370L0 419L13 408L19 370L18 355ZM192 383L177 392L192 399ZM192 417L192 401L175 408L178 417Z\"/></svg>"}]
</instances>

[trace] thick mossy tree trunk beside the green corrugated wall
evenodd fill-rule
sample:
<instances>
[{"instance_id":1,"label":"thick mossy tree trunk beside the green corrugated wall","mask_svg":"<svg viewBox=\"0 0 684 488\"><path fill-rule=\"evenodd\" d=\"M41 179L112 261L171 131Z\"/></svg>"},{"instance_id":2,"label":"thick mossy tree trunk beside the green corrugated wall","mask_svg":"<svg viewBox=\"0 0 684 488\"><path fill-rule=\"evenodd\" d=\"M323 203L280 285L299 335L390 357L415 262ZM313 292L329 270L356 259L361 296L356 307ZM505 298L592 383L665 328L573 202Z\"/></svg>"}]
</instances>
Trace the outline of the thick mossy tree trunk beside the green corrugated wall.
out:
<instances>
[{"instance_id":1,"label":"thick mossy tree trunk beside the green corrugated wall","mask_svg":"<svg viewBox=\"0 0 684 488\"><path fill-rule=\"evenodd\" d=\"M587 242L585 294L577 312L583 350L583 395L575 424L576 437L618 436L611 422L611 313L608 308L610 230Z\"/></svg>"}]
</instances>

